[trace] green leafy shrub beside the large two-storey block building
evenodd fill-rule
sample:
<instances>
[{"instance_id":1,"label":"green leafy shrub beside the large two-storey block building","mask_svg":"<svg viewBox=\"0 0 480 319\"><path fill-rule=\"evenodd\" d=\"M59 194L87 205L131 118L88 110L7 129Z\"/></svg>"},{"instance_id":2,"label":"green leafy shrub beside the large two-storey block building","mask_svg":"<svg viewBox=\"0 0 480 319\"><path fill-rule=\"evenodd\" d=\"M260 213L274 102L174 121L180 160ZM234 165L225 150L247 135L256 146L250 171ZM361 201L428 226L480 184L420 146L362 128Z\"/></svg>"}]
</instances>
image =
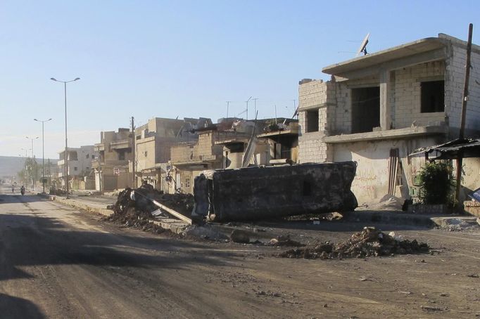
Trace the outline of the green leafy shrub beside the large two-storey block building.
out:
<instances>
[{"instance_id":1,"label":"green leafy shrub beside the large two-storey block building","mask_svg":"<svg viewBox=\"0 0 480 319\"><path fill-rule=\"evenodd\" d=\"M419 200L422 204L453 204L455 180L445 162L427 163L420 171Z\"/></svg>"}]
</instances>

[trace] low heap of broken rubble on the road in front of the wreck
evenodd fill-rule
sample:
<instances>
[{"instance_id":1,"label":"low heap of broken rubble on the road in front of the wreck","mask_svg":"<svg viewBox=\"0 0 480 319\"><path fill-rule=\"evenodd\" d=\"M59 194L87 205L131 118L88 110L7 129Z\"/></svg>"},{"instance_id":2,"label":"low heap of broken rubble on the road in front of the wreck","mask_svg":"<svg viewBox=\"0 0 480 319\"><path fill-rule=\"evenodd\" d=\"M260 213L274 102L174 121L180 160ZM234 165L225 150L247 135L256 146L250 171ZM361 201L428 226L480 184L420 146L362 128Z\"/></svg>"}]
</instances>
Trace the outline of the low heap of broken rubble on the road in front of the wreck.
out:
<instances>
[{"instance_id":1,"label":"low heap of broken rubble on the road in front of the wreck","mask_svg":"<svg viewBox=\"0 0 480 319\"><path fill-rule=\"evenodd\" d=\"M345 242L334 244L320 242L305 247L295 247L278 254L284 258L343 259L367 256L391 256L393 254L415 254L429 251L429 246L417 240L398 240L374 227L365 227Z\"/></svg>"}]
</instances>

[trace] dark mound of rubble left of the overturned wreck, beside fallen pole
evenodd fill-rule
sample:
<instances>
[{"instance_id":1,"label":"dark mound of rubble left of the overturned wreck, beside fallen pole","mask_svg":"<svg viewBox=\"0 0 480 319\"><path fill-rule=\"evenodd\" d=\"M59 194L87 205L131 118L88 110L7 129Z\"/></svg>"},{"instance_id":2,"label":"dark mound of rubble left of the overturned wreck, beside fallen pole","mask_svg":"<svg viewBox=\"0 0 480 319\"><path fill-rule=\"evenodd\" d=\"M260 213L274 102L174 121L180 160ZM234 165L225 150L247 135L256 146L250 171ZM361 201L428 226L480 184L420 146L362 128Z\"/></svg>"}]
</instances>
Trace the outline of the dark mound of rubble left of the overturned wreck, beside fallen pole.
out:
<instances>
[{"instance_id":1,"label":"dark mound of rubble left of the overturned wreck, beside fallen pole","mask_svg":"<svg viewBox=\"0 0 480 319\"><path fill-rule=\"evenodd\" d=\"M134 191L133 196L132 191ZM156 211L158 207L149 199L156 200L188 217L191 216L191 209L194 206L193 195L163 194L147 184L141 185L140 188L135 190L132 190L132 188L122 190L118 194L117 202L108 207L113 209L114 213L108 216L106 220L126 227L142 228L146 231L153 230L156 233L160 230L163 231L163 228L151 223L155 219L151 213Z\"/></svg>"}]
</instances>

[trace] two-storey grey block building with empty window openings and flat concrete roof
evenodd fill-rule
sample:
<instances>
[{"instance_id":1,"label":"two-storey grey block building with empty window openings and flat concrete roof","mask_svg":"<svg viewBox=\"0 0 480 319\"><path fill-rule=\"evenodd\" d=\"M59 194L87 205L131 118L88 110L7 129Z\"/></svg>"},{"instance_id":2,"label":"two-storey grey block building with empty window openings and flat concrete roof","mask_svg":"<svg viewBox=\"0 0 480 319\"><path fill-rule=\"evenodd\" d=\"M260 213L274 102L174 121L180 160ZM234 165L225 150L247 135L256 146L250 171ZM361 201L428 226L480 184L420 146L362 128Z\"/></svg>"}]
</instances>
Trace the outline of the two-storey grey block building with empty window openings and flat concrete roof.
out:
<instances>
[{"instance_id":1,"label":"two-storey grey block building with empty window openings and flat concrete roof","mask_svg":"<svg viewBox=\"0 0 480 319\"><path fill-rule=\"evenodd\" d=\"M358 162L360 203L410 197L424 159L408 155L458 136L465 63L466 42L439 34L324 67L331 81L302 80L299 162ZM472 64L480 65L476 45ZM479 71L470 77L465 133L475 136Z\"/></svg>"}]
</instances>

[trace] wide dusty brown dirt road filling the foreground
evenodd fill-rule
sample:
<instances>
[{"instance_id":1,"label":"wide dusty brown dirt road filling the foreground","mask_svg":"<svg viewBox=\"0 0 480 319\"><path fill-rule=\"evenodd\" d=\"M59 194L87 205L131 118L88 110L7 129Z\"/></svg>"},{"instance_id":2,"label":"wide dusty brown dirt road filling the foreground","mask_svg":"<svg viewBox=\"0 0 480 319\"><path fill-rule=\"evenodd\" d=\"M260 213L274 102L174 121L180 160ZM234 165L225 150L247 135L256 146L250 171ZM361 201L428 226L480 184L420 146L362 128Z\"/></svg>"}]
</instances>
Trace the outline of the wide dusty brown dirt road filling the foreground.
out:
<instances>
[{"instance_id":1,"label":"wide dusty brown dirt road filling the foreground","mask_svg":"<svg viewBox=\"0 0 480 319\"><path fill-rule=\"evenodd\" d=\"M310 261L99 218L33 195L0 195L0 317L480 316L479 233L396 230L438 253ZM339 241L351 233L318 237Z\"/></svg>"}]
</instances>

